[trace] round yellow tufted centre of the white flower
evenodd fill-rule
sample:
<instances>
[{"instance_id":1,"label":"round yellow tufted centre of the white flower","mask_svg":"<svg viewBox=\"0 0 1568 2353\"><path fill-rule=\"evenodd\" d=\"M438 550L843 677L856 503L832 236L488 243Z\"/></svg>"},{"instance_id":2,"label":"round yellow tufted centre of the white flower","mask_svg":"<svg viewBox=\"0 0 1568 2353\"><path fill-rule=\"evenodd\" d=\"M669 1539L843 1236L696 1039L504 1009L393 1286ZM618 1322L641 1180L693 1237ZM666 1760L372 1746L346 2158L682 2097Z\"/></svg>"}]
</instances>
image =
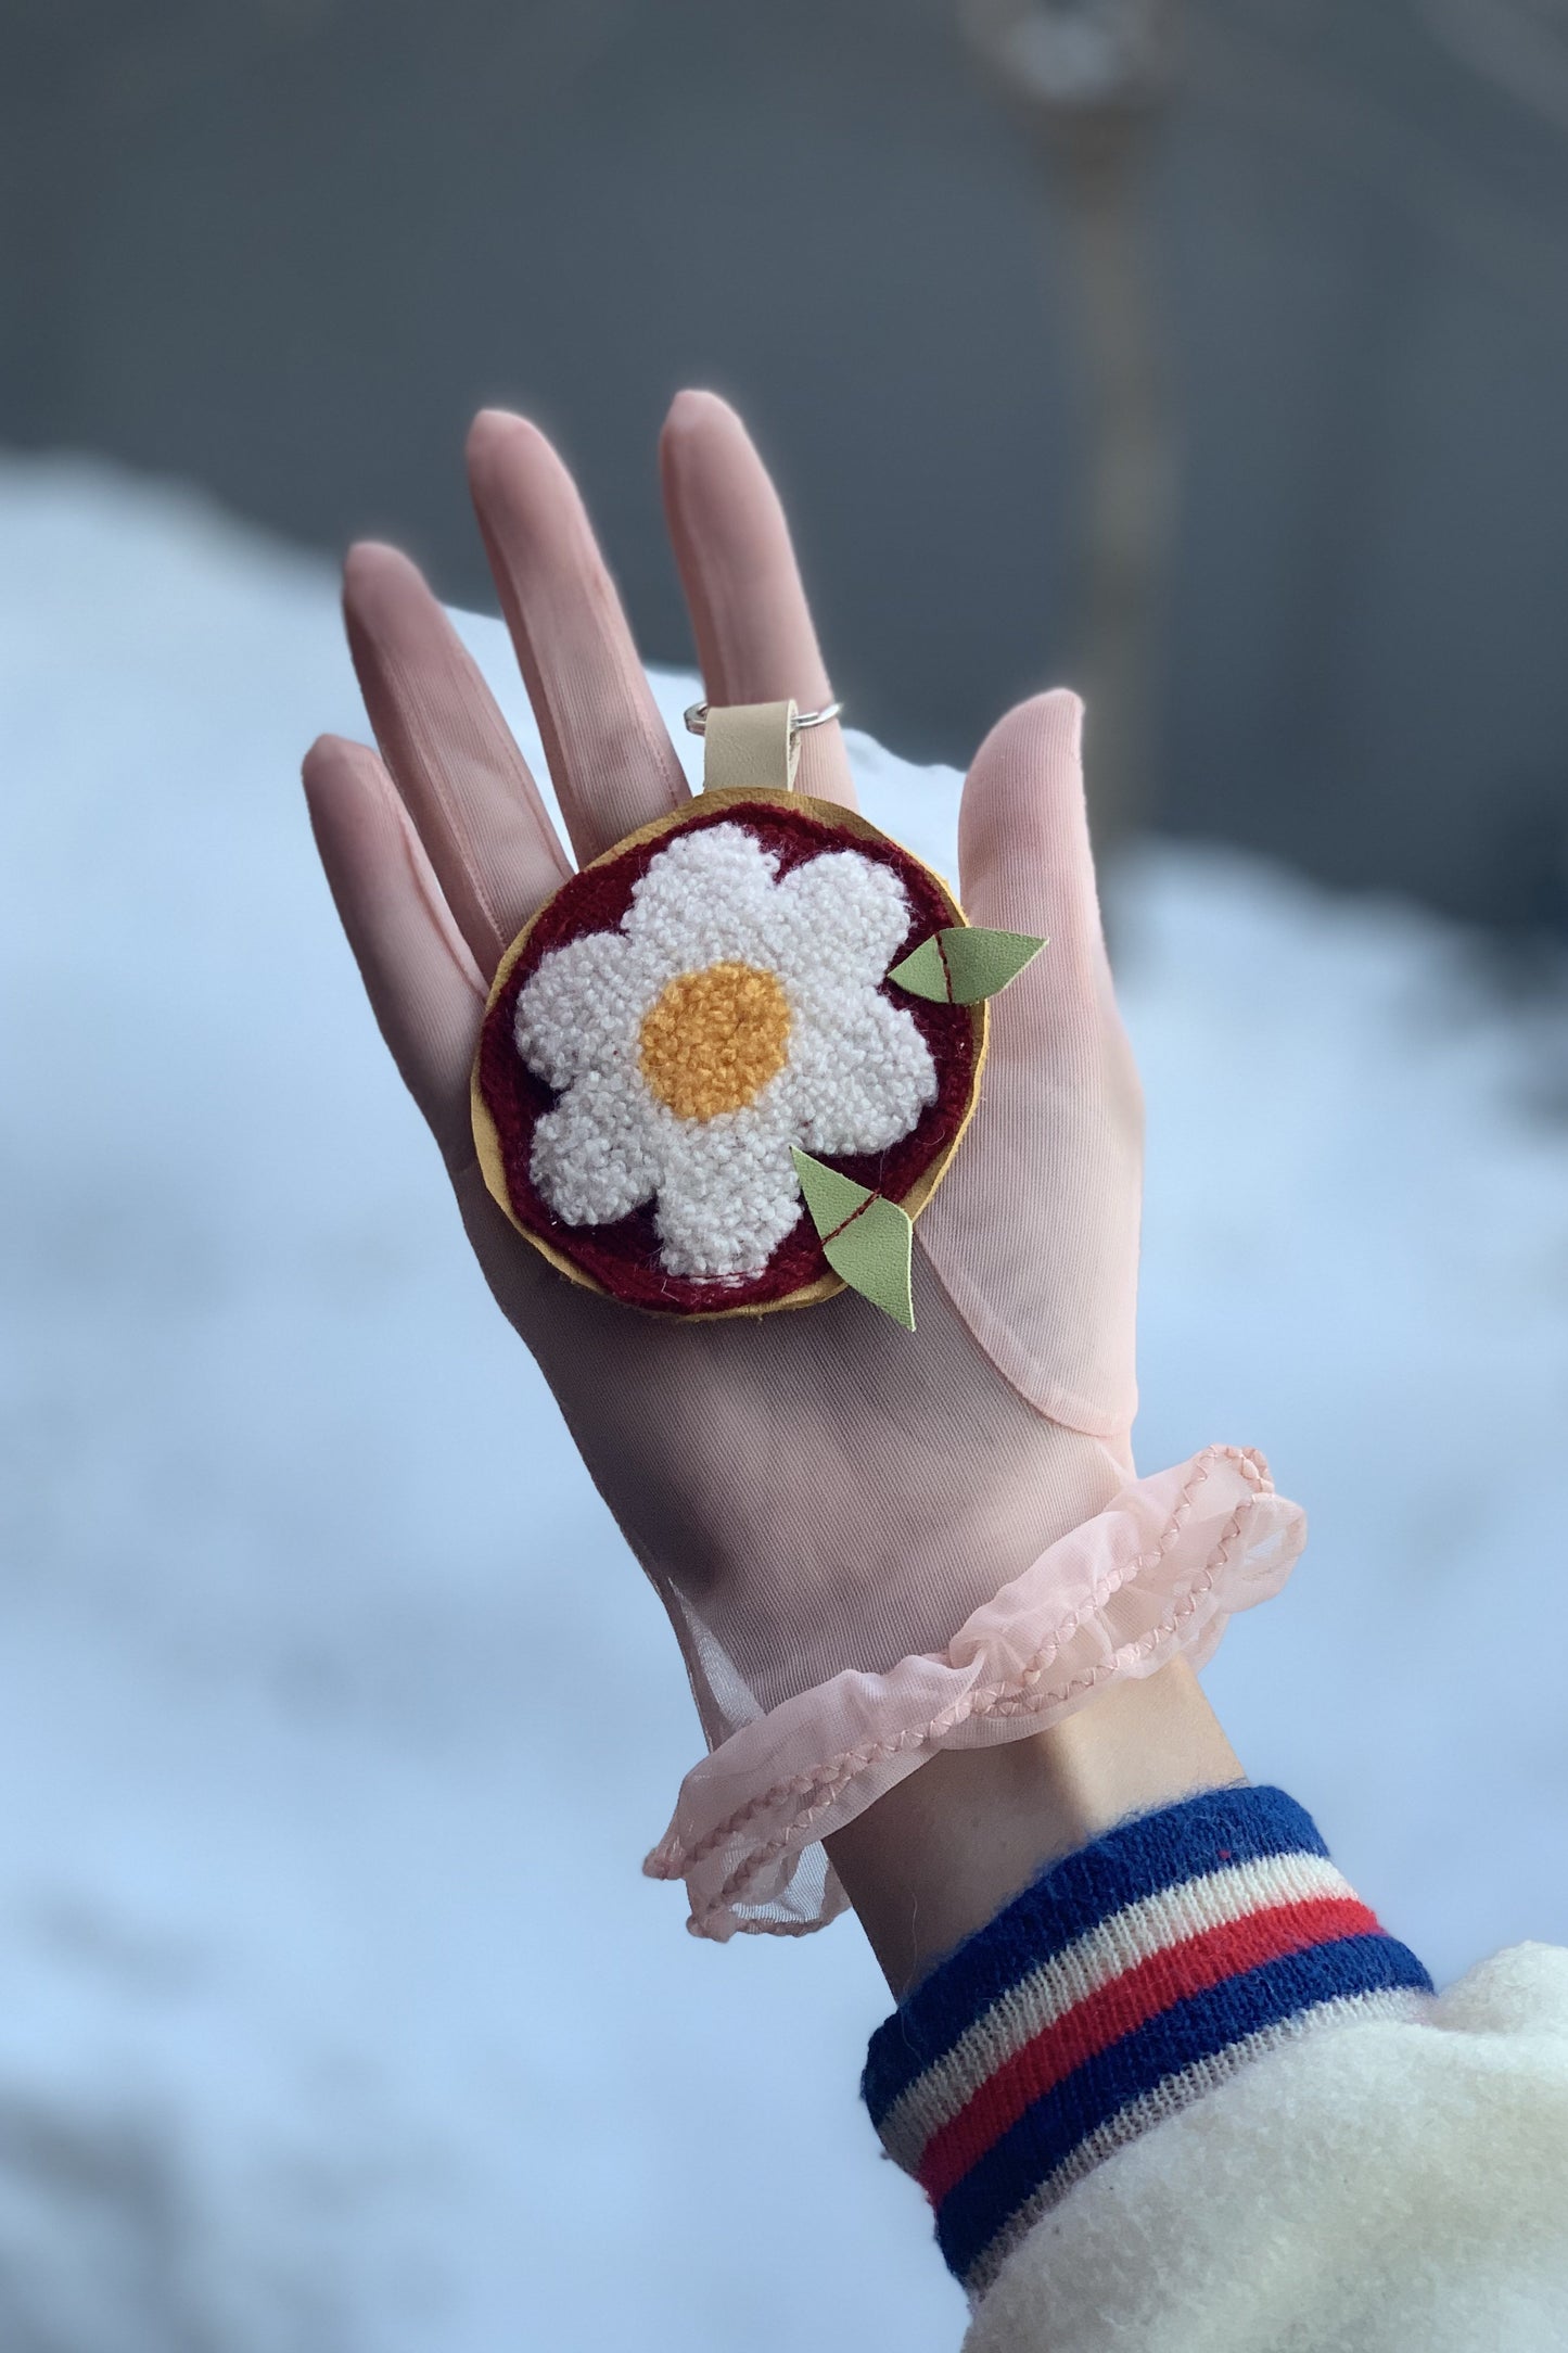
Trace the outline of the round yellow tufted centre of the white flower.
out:
<instances>
[{"instance_id":1,"label":"round yellow tufted centre of the white flower","mask_svg":"<svg viewBox=\"0 0 1568 2353\"><path fill-rule=\"evenodd\" d=\"M679 1120L755 1104L788 1049L790 1000L757 965L679 972L642 1016L642 1075Z\"/></svg>"}]
</instances>

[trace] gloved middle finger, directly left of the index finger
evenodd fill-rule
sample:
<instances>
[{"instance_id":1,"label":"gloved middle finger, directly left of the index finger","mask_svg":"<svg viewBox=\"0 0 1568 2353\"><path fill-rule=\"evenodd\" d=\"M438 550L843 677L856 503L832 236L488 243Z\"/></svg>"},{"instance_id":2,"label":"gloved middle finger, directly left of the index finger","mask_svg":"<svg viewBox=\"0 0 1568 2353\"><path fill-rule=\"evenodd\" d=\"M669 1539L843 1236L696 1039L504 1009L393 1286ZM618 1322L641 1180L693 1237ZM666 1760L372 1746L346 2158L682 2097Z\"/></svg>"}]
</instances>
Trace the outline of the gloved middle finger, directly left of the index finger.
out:
<instances>
[{"instance_id":1,"label":"gloved middle finger, directly left of the index finger","mask_svg":"<svg viewBox=\"0 0 1568 2353\"><path fill-rule=\"evenodd\" d=\"M576 482L543 433L482 409L468 482L578 859L689 800Z\"/></svg>"}]
</instances>

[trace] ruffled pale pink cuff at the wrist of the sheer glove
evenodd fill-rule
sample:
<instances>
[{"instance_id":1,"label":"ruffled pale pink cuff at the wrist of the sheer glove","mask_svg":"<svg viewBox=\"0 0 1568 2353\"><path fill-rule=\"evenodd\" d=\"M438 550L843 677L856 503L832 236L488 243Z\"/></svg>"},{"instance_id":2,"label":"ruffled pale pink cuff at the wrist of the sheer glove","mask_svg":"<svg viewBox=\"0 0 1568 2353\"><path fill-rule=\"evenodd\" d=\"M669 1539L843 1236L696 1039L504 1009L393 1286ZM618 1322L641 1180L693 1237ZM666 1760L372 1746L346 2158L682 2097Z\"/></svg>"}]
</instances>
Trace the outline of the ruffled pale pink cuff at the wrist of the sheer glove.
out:
<instances>
[{"instance_id":1,"label":"ruffled pale pink cuff at the wrist of the sheer glove","mask_svg":"<svg viewBox=\"0 0 1568 2353\"><path fill-rule=\"evenodd\" d=\"M1107 1682L1213 1657L1237 1609L1279 1593L1305 1544L1251 1447L1143 1478L976 1609L945 1652L846 1671L733 1732L682 1781L651 1878L684 1878L686 1927L799 1937L844 1911L820 1840L936 1748L1063 1722Z\"/></svg>"}]
</instances>

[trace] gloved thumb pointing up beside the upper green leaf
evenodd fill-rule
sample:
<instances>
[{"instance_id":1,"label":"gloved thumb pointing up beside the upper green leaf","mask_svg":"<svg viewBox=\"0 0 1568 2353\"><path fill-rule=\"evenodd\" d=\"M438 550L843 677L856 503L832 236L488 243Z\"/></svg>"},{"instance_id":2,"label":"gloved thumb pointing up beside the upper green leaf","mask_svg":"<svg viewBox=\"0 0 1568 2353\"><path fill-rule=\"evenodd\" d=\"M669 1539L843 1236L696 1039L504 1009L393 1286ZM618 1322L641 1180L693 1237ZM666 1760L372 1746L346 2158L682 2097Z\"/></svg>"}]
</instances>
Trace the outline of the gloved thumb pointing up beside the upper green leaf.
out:
<instances>
[{"instance_id":1,"label":"gloved thumb pointing up beside the upper green leaf","mask_svg":"<svg viewBox=\"0 0 1568 2353\"><path fill-rule=\"evenodd\" d=\"M1051 946L997 998L999 1026L1081 1028L1112 1000L1081 767L1084 706L1058 687L1009 711L976 753L959 807L971 922Z\"/></svg>"}]
</instances>

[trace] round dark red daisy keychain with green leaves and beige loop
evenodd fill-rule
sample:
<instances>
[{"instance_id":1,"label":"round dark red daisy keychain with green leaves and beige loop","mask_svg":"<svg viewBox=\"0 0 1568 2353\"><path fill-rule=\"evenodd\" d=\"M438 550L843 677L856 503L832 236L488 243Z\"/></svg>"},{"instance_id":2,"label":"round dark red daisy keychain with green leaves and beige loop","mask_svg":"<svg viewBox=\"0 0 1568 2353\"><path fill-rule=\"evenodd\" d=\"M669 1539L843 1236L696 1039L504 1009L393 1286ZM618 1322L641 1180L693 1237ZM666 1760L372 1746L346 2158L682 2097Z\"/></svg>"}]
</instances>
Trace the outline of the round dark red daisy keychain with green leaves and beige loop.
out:
<instances>
[{"instance_id":1,"label":"round dark red daisy keychain with green leaves and beige loop","mask_svg":"<svg viewBox=\"0 0 1568 2353\"><path fill-rule=\"evenodd\" d=\"M473 1066L484 1184L564 1275L661 1315L849 1287L914 1329L912 1219L976 1108L987 1007L1046 946L795 791L839 706L710 708L703 791L545 901Z\"/></svg>"}]
</instances>

